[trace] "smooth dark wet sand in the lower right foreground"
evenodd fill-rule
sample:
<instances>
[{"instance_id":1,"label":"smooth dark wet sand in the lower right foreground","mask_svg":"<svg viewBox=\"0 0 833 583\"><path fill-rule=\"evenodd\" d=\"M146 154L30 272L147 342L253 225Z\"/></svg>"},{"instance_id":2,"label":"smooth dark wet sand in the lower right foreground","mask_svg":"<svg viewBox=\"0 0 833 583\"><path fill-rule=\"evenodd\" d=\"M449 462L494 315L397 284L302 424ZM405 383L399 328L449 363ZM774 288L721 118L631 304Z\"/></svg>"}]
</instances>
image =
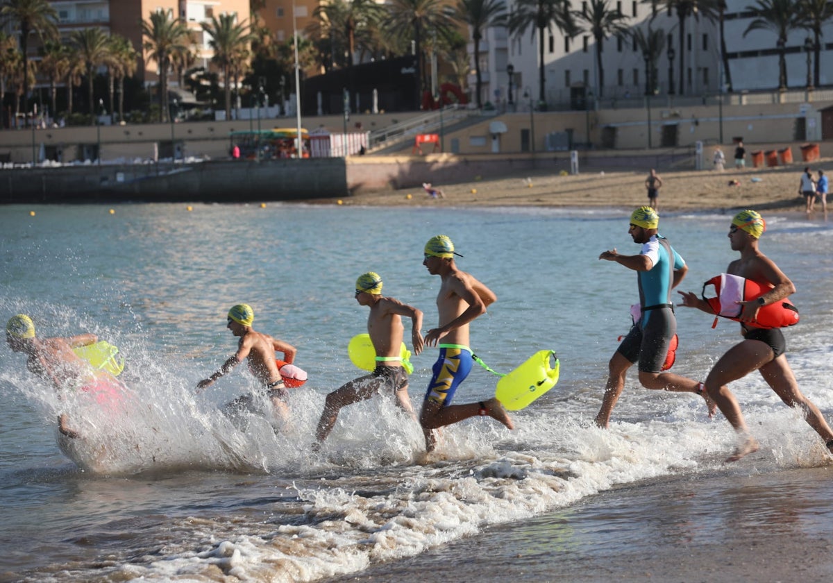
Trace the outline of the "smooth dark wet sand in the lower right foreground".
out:
<instances>
[{"instance_id":1,"label":"smooth dark wet sand in the lower right foreground","mask_svg":"<svg viewBox=\"0 0 833 583\"><path fill-rule=\"evenodd\" d=\"M632 484L328 581L825 581L833 466L755 466Z\"/></svg>"}]
</instances>

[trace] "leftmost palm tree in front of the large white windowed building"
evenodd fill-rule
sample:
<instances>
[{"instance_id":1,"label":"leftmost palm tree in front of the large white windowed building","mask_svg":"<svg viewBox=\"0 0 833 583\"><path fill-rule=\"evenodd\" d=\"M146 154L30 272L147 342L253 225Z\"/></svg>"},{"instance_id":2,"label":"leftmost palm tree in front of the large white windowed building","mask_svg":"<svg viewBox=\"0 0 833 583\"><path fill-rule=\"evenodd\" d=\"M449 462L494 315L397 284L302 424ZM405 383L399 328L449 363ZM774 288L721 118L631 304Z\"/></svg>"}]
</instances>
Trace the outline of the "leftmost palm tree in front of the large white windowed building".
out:
<instances>
[{"instance_id":1,"label":"leftmost palm tree in front of the large white windowed building","mask_svg":"<svg viewBox=\"0 0 833 583\"><path fill-rule=\"evenodd\" d=\"M554 35L553 27L562 34L576 34L569 0L517 0L515 12L509 17L509 32L522 35L531 29L530 36L538 32L538 107L546 108L546 77L544 76L544 31Z\"/></svg>"}]
</instances>

